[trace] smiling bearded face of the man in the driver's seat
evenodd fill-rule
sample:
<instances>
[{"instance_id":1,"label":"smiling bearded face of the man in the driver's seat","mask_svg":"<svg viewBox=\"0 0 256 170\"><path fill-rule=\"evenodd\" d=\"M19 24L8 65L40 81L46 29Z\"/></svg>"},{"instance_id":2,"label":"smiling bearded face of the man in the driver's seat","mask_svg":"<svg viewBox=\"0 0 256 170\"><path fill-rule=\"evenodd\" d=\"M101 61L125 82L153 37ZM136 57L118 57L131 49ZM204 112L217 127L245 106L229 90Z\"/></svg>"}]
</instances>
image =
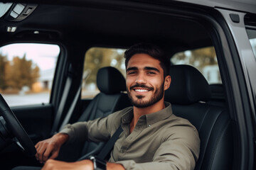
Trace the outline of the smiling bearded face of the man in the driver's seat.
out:
<instances>
[{"instance_id":1,"label":"smiling bearded face of the man in the driver's seat","mask_svg":"<svg viewBox=\"0 0 256 170\"><path fill-rule=\"evenodd\" d=\"M159 102L170 82L170 77L164 79L160 61L150 55L133 55L127 64L127 94L137 108L146 108Z\"/></svg>"}]
</instances>

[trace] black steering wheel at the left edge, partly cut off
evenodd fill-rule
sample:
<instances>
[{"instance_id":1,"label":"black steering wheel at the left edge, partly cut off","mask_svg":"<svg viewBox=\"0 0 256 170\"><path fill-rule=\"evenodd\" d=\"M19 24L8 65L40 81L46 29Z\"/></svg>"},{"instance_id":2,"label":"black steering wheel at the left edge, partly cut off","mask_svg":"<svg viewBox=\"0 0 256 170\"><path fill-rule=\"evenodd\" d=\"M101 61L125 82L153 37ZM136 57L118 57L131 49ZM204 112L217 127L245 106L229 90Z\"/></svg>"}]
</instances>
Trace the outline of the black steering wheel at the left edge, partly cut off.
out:
<instances>
[{"instance_id":1,"label":"black steering wheel at the left edge, partly cut off","mask_svg":"<svg viewBox=\"0 0 256 170\"><path fill-rule=\"evenodd\" d=\"M6 141L13 141L28 155L35 155L36 148L23 129L21 123L0 94L0 136Z\"/></svg>"}]
</instances>

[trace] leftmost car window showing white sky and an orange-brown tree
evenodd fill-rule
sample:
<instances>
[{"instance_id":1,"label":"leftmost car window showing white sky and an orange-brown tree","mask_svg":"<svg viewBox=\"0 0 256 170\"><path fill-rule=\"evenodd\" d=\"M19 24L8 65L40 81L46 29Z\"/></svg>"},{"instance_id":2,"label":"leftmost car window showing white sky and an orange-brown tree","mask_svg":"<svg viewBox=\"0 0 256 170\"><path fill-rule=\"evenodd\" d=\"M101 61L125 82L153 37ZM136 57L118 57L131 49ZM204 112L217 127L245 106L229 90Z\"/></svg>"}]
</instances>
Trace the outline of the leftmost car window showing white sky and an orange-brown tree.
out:
<instances>
[{"instance_id":1,"label":"leftmost car window showing white sky and an orange-brown tree","mask_svg":"<svg viewBox=\"0 0 256 170\"><path fill-rule=\"evenodd\" d=\"M0 93L9 106L49 103L58 45L16 43L0 48Z\"/></svg>"}]
</instances>

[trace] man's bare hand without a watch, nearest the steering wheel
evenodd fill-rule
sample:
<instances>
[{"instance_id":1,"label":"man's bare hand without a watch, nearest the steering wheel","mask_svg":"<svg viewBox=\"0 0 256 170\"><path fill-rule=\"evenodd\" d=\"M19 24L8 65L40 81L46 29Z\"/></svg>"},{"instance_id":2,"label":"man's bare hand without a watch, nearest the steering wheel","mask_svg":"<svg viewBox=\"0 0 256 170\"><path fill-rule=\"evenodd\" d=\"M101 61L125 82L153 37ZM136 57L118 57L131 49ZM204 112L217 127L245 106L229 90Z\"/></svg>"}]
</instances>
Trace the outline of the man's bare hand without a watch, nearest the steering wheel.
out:
<instances>
[{"instance_id":1,"label":"man's bare hand without a watch, nearest the steering wheel","mask_svg":"<svg viewBox=\"0 0 256 170\"><path fill-rule=\"evenodd\" d=\"M68 135L57 133L47 140L43 140L36 144L36 159L42 164L48 158L55 159L58 157L60 147L68 140ZM50 156L50 157L49 157Z\"/></svg>"}]
</instances>

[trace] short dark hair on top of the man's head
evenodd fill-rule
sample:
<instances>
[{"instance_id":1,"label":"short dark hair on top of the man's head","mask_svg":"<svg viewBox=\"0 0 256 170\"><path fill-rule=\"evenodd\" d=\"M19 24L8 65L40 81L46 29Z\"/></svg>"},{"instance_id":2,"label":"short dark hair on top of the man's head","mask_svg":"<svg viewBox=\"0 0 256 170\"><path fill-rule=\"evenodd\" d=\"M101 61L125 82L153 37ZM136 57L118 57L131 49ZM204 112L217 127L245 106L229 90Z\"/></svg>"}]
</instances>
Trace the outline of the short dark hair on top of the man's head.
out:
<instances>
[{"instance_id":1,"label":"short dark hair on top of the man's head","mask_svg":"<svg viewBox=\"0 0 256 170\"><path fill-rule=\"evenodd\" d=\"M127 67L127 64L132 56L136 54L150 55L154 59L159 60L161 68L164 69L164 77L169 75L171 62L169 57L164 54L164 51L161 50L160 47L147 42L140 42L132 45L124 52L125 67Z\"/></svg>"}]
</instances>

